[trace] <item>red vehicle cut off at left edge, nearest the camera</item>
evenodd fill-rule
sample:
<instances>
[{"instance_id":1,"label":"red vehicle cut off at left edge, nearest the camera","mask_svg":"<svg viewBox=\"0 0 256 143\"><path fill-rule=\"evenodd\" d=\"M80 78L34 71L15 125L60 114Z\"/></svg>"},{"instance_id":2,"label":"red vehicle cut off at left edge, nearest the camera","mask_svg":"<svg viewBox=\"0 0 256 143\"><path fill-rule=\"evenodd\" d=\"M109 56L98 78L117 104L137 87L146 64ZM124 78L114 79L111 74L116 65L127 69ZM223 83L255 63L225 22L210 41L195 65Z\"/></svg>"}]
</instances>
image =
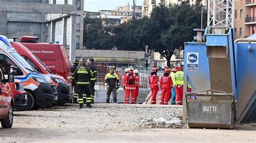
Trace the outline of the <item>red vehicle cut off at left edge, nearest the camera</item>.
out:
<instances>
[{"instance_id":1,"label":"red vehicle cut off at left edge, nearest the camera","mask_svg":"<svg viewBox=\"0 0 256 143\"><path fill-rule=\"evenodd\" d=\"M3 128L11 128L14 121L14 95L8 84L14 84L14 76L8 75L5 80L3 70L0 67L0 121Z\"/></svg>"}]
</instances>

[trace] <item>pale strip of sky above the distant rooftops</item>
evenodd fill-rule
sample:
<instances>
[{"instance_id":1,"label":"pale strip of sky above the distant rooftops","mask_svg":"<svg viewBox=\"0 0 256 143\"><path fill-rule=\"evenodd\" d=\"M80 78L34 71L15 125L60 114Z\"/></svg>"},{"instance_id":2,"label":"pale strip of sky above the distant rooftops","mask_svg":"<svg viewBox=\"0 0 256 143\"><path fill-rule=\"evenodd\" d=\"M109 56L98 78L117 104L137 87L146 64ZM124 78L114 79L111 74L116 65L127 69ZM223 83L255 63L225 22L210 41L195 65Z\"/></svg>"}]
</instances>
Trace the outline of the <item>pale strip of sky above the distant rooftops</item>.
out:
<instances>
[{"instance_id":1,"label":"pale strip of sky above the distant rooftops","mask_svg":"<svg viewBox=\"0 0 256 143\"><path fill-rule=\"evenodd\" d=\"M135 0L136 5L142 5L142 0ZM132 5L133 0L84 0L84 11L115 10L117 6Z\"/></svg>"}]
</instances>

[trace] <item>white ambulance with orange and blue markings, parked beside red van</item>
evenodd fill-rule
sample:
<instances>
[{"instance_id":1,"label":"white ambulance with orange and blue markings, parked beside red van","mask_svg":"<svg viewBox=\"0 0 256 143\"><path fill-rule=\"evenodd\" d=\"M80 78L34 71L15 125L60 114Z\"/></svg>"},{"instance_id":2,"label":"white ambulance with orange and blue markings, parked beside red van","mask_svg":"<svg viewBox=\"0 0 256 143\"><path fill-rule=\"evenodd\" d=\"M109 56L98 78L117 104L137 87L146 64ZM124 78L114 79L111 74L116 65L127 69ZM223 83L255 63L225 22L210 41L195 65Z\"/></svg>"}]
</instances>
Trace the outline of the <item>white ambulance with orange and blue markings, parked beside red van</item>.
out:
<instances>
[{"instance_id":1,"label":"white ambulance with orange and blue markings, parked beside red van","mask_svg":"<svg viewBox=\"0 0 256 143\"><path fill-rule=\"evenodd\" d=\"M6 37L0 35L0 65L4 75L10 73L11 66L17 67L14 72L16 79L24 84L28 104L18 110L50 108L58 100L55 84L50 77L36 73L36 70L19 55L10 45Z\"/></svg>"}]
</instances>

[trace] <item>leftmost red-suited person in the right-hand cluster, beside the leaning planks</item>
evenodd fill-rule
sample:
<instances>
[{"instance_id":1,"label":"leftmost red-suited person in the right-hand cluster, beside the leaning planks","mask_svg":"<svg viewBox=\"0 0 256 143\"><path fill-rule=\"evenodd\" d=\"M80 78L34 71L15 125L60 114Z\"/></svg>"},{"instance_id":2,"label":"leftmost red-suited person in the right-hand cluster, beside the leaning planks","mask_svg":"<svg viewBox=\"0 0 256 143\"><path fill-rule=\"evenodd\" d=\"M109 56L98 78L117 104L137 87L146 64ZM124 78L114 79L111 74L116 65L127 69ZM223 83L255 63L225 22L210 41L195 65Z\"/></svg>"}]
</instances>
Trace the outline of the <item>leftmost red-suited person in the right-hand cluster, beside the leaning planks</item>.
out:
<instances>
[{"instance_id":1,"label":"leftmost red-suited person in the right-hand cluster, beside the leaning planks","mask_svg":"<svg viewBox=\"0 0 256 143\"><path fill-rule=\"evenodd\" d=\"M151 104L157 104L157 92L159 90L157 70L158 69L156 67L153 68L149 76L149 84L152 92Z\"/></svg>"}]
</instances>

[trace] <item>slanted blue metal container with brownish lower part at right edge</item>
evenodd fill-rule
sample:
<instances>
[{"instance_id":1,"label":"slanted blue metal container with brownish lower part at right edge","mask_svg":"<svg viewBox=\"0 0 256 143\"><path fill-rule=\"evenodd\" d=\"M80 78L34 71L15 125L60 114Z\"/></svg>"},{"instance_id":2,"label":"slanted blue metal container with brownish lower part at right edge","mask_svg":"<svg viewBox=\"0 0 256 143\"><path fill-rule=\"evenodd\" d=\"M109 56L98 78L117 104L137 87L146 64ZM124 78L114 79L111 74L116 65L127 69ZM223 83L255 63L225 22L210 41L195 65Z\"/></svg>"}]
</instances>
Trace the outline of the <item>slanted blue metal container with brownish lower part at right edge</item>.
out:
<instances>
[{"instance_id":1,"label":"slanted blue metal container with brownish lower part at right edge","mask_svg":"<svg viewBox=\"0 0 256 143\"><path fill-rule=\"evenodd\" d=\"M248 46L254 49L248 50ZM255 122L256 44L235 43L238 83L238 116L243 123Z\"/></svg>"}]
</instances>

